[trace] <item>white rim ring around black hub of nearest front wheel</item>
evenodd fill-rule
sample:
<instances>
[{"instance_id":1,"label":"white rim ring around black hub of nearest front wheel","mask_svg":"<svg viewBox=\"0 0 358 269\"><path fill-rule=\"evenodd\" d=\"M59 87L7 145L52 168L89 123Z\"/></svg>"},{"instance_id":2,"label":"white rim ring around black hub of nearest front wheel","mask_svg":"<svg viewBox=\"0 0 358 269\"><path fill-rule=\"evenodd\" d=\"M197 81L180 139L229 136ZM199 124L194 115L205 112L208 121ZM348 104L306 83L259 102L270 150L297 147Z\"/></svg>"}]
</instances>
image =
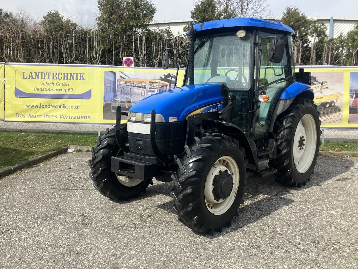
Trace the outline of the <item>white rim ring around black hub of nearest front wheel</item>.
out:
<instances>
[{"instance_id":1,"label":"white rim ring around black hub of nearest front wheel","mask_svg":"<svg viewBox=\"0 0 358 269\"><path fill-rule=\"evenodd\" d=\"M213 180L215 176L219 175L220 171L226 171L227 173L232 175L233 178L233 187L232 191L226 199L219 199L219 201L214 199L213 194ZM236 161L230 156L222 156L220 157L214 165L211 167L206 181L205 181L205 203L208 210L214 215L224 214L229 208L232 206L240 183L240 173L239 167L237 166Z\"/></svg>"}]
</instances>

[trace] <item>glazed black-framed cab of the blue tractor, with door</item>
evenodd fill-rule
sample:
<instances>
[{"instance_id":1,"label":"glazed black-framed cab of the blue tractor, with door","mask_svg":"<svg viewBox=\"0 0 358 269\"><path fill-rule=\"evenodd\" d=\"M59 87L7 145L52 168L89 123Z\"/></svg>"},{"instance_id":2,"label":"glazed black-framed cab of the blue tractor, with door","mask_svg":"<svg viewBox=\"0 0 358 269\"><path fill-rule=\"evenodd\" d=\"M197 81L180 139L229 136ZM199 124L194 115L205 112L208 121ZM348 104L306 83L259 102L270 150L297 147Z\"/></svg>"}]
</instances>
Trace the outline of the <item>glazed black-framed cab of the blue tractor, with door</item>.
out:
<instances>
[{"instance_id":1,"label":"glazed black-framed cab of the blue tractor, with door","mask_svg":"<svg viewBox=\"0 0 358 269\"><path fill-rule=\"evenodd\" d=\"M255 136L269 131L268 115L281 90L295 79L295 67L292 30L283 25L282 29L267 29L261 20L246 20L251 22L248 25L256 23L258 27L220 29L211 28L210 22L204 30L197 27L193 77L194 84L222 84L225 98L236 98L229 121ZM190 84L189 70L184 85Z\"/></svg>"}]
</instances>

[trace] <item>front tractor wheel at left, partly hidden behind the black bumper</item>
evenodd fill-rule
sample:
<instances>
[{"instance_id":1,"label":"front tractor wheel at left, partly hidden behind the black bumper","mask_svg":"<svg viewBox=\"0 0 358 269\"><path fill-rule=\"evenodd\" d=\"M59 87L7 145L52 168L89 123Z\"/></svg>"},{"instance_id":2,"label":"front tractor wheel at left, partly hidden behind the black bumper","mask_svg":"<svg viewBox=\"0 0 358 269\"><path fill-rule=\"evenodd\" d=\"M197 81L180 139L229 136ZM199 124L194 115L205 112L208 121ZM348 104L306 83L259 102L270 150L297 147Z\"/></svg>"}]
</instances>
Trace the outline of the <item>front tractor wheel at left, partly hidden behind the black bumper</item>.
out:
<instances>
[{"instance_id":1,"label":"front tractor wheel at left, partly hidden behind the black bumper","mask_svg":"<svg viewBox=\"0 0 358 269\"><path fill-rule=\"evenodd\" d=\"M123 137L125 139L125 137ZM140 179L126 178L111 171L111 157L122 156L123 151L116 141L115 128L106 130L102 137L98 137L97 147L92 147L92 159L88 161L91 172L89 176L95 187L102 195L119 202L137 197L149 184L151 179L142 181Z\"/></svg>"}]
</instances>

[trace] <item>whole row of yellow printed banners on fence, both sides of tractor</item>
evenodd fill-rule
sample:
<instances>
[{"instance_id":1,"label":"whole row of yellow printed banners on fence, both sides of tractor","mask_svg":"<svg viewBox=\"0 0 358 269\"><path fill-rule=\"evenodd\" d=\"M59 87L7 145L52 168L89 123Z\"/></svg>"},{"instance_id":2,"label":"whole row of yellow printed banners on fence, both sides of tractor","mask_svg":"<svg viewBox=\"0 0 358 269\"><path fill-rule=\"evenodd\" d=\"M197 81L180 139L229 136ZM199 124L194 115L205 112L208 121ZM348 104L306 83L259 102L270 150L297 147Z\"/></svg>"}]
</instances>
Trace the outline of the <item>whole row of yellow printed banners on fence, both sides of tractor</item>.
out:
<instances>
[{"instance_id":1,"label":"whole row of yellow printed banners on fence, both sides of tractor","mask_svg":"<svg viewBox=\"0 0 358 269\"><path fill-rule=\"evenodd\" d=\"M358 68L303 66L312 73L311 89L321 127L358 127ZM184 69L0 63L5 121L113 124L117 107L183 84ZM298 69L296 69L298 71ZM0 119L4 115L0 94ZM155 108L156 104L153 104ZM122 120L127 117L122 115Z\"/></svg>"}]
</instances>

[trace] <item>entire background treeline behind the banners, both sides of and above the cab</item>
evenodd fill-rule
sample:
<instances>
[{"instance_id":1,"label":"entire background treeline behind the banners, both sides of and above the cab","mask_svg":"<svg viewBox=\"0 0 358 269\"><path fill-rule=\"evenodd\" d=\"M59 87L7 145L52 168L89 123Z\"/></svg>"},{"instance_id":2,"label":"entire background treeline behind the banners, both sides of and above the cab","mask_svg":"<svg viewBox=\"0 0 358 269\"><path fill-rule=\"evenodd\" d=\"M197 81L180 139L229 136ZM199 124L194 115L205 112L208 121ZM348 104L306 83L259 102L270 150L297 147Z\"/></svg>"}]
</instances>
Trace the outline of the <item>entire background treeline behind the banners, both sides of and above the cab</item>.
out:
<instances>
[{"instance_id":1,"label":"entire background treeline behind the banners, both sides of and above the cab","mask_svg":"<svg viewBox=\"0 0 358 269\"><path fill-rule=\"evenodd\" d=\"M266 0L199 0L191 14L201 23L258 17L266 9ZM35 21L24 12L0 9L0 61L121 66L123 57L134 57L135 66L160 67L164 48L187 48L185 35L148 28L156 11L150 0L98 0L98 11L95 27L86 28L56 10ZM294 7L286 8L282 23L295 30L296 65L358 65L358 24L346 36L328 39L323 23ZM174 67L177 59L170 53Z\"/></svg>"}]
</instances>

